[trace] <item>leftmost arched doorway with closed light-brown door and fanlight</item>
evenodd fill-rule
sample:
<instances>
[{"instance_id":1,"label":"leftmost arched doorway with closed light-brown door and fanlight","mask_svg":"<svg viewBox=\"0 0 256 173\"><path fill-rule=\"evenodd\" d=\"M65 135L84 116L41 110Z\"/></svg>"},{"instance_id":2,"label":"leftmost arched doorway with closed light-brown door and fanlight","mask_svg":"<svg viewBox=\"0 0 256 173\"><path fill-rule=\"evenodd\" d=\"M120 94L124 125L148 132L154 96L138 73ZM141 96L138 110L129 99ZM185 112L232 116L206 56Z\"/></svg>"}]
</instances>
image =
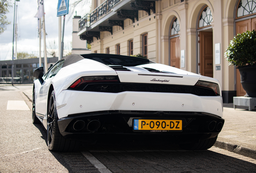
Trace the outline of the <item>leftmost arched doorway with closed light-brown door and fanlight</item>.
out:
<instances>
[{"instance_id":1,"label":"leftmost arched doorway with closed light-brown door and fanlight","mask_svg":"<svg viewBox=\"0 0 256 173\"><path fill-rule=\"evenodd\" d=\"M174 17L169 30L169 65L180 68L180 23L179 20Z\"/></svg>"}]
</instances>

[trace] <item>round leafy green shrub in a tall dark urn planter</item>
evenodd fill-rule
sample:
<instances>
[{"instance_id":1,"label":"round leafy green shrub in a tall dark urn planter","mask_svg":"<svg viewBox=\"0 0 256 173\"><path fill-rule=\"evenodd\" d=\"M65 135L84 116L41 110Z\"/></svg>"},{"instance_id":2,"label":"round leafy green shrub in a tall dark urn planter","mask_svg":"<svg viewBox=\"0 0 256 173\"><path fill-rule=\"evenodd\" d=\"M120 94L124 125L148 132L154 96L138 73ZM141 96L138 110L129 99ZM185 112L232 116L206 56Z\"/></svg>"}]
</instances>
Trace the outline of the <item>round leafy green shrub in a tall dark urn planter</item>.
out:
<instances>
[{"instance_id":1,"label":"round leafy green shrub in a tall dark urn planter","mask_svg":"<svg viewBox=\"0 0 256 173\"><path fill-rule=\"evenodd\" d=\"M256 31L237 34L225 52L229 65L240 72L245 97L256 97Z\"/></svg>"}]
</instances>

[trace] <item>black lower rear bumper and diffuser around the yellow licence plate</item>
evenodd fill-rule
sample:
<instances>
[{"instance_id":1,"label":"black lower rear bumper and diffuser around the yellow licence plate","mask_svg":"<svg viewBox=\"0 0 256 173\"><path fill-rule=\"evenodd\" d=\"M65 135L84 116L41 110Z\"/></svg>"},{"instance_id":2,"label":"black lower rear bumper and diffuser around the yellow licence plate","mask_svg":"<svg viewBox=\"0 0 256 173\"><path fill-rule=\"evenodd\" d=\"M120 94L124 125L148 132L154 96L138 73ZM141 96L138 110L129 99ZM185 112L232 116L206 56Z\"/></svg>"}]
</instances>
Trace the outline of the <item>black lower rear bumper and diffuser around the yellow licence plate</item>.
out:
<instances>
[{"instance_id":1,"label":"black lower rear bumper and diffuser around the yellow licence plate","mask_svg":"<svg viewBox=\"0 0 256 173\"><path fill-rule=\"evenodd\" d=\"M134 131L133 119L182 120L182 131ZM84 122L81 129L76 122ZM98 121L97 129L89 129L89 123ZM58 120L60 133L70 139L102 139L111 135L120 138L168 138L177 143L197 142L216 137L224 119L208 113L168 111L98 111L69 115Z\"/></svg>"}]
</instances>

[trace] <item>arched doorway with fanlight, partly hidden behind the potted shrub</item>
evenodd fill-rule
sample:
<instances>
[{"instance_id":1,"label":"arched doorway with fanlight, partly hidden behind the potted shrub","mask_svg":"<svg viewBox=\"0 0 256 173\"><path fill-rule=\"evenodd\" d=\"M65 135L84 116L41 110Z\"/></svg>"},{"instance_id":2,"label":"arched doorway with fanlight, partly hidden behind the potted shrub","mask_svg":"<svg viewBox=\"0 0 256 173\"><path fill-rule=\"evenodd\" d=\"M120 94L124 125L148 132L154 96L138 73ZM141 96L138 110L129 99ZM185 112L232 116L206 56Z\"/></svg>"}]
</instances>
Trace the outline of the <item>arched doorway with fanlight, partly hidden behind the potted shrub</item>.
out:
<instances>
[{"instance_id":1,"label":"arched doorway with fanlight, partly hidden behind the potted shrub","mask_svg":"<svg viewBox=\"0 0 256 173\"><path fill-rule=\"evenodd\" d=\"M237 0L235 6L235 35L256 30L256 0ZM240 83L240 73L236 70L236 96L244 96L242 84Z\"/></svg>"}]
</instances>

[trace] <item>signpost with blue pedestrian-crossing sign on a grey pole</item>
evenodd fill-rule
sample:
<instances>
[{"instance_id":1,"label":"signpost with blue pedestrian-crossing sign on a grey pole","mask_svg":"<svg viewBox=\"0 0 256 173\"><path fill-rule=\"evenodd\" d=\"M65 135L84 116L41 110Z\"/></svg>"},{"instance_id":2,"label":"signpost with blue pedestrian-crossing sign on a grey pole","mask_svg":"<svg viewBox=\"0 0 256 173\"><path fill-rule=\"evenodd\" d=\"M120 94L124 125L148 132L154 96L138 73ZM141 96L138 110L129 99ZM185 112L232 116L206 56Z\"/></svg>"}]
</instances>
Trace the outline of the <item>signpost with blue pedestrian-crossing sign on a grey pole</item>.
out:
<instances>
[{"instance_id":1,"label":"signpost with blue pedestrian-crossing sign on a grey pole","mask_svg":"<svg viewBox=\"0 0 256 173\"><path fill-rule=\"evenodd\" d=\"M61 42L61 50L60 50L60 59L63 58L63 47L64 47L64 27L65 27L65 16L68 14L68 4L69 0L58 0L58 8L57 8L57 17L63 16L63 30L62 30L62 42Z\"/></svg>"}]
</instances>

